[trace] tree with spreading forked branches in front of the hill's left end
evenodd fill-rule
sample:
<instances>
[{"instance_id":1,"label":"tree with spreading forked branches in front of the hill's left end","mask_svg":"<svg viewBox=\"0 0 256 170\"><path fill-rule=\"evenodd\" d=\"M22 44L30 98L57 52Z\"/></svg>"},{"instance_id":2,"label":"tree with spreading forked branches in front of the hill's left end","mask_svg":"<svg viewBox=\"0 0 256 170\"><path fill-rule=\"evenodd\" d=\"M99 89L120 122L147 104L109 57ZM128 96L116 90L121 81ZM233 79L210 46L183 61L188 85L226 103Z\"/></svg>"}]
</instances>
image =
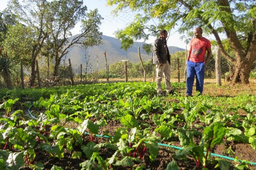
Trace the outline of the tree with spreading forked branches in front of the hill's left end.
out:
<instances>
[{"instance_id":1,"label":"tree with spreading forked branches in front of the hill's left end","mask_svg":"<svg viewBox=\"0 0 256 170\"><path fill-rule=\"evenodd\" d=\"M55 60L54 76L58 76L61 59L68 53L69 48L82 41L84 41L82 44L87 45L101 42L102 33L99 32L99 24L102 17L97 10L86 13L87 7L83 6L82 0L54 0L50 3L49 10L52 14L49 25L51 34L44 55L50 55ZM69 40L68 37L72 36L70 31L80 21L82 21L81 34Z\"/></svg>"}]
</instances>

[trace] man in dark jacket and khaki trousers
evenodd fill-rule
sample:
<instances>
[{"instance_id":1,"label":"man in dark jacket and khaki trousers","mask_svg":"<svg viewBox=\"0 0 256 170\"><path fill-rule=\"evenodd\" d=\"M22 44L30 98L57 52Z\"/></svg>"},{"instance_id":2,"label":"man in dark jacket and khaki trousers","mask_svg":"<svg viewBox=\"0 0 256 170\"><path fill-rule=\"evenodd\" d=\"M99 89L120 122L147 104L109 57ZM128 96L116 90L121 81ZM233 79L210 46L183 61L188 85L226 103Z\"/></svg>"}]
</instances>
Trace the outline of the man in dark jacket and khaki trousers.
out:
<instances>
[{"instance_id":1,"label":"man in dark jacket and khaki trousers","mask_svg":"<svg viewBox=\"0 0 256 170\"><path fill-rule=\"evenodd\" d=\"M157 65L157 95L163 96L162 76L165 79L167 94L173 94L170 82L170 54L166 43L168 33L166 30L160 31L160 37L154 41L154 64Z\"/></svg>"}]
</instances>

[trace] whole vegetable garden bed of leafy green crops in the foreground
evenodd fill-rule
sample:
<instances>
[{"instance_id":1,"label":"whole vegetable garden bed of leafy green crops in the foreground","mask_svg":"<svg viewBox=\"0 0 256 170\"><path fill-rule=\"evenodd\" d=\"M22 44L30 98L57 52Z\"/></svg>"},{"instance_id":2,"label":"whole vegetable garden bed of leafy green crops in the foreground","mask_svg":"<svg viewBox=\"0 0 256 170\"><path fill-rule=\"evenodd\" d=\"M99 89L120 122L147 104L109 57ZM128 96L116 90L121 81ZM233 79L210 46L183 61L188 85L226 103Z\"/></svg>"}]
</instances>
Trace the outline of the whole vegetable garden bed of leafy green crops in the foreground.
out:
<instances>
[{"instance_id":1,"label":"whole vegetable garden bed of leafy green crops in the foreground","mask_svg":"<svg viewBox=\"0 0 256 170\"><path fill-rule=\"evenodd\" d=\"M255 169L256 96L172 86L165 97L149 82L3 90L0 169Z\"/></svg>"}]
</instances>

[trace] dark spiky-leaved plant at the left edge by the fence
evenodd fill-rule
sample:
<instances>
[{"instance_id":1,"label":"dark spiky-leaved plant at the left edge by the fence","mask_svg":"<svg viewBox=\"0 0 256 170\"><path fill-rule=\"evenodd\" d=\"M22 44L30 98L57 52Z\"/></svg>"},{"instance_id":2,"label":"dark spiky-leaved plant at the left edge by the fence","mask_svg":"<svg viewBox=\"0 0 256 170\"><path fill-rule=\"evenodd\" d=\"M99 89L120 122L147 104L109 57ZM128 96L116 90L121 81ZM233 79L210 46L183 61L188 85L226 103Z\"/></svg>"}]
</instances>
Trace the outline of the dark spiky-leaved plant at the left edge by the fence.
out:
<instances>
[{"instance_id":1,"label":"dark spiky-leaved plant at the left edge by the fence","mask_svg":"<svg viewBox=\"0 0 256 170\"><path fill-rule=\"evenodd\" d=\"M0 75L9 89L12 88L10 68L12 68L11 60L8 58L7 52L4 53L2 48L0 48Z\"/></svg>"}]
</instances>

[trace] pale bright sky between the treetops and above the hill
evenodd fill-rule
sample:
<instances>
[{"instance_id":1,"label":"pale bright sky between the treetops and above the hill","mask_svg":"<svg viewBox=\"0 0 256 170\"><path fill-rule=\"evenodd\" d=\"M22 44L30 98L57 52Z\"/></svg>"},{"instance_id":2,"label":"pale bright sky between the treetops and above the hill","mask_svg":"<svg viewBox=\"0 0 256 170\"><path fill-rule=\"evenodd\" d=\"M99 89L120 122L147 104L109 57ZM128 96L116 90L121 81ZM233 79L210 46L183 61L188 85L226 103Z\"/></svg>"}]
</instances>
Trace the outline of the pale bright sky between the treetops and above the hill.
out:
<instances>
[{"instance_id":1,"label":"pale bright sky between the treetops and above the hill","mask_svg":"<svg viewBox=\"0 0 256 170\"><path fill-rule=\"evenodd\" d=\"M1 0L0 10L2 11L7 7L7 3L9 0ZM21 1L21 0L19 0ZM84 0L84 5L87 6L88 10L93 10L98 8L99 14L104 18L102 20L102 25L100 26L100 31L103 35L109 37L115 37L114 32L118 29L125 28L129 23L131 23L134 19L135 12L131 12L128 10L122 11L119 13L118 17L114 17L111 14L111 11L114 7L106 6L107 0ZM79 34L80 25L78 24L73 30L72 34ZM154 42L156 37L149 37L147 43ZM140 42L143 40L140 40ZM167 41L168 46L176 46L179 48L186 48L186 44L184 41L180 40L180 34L172 30L170 33L169 40Z\"/></svg>"}]
</instances>

